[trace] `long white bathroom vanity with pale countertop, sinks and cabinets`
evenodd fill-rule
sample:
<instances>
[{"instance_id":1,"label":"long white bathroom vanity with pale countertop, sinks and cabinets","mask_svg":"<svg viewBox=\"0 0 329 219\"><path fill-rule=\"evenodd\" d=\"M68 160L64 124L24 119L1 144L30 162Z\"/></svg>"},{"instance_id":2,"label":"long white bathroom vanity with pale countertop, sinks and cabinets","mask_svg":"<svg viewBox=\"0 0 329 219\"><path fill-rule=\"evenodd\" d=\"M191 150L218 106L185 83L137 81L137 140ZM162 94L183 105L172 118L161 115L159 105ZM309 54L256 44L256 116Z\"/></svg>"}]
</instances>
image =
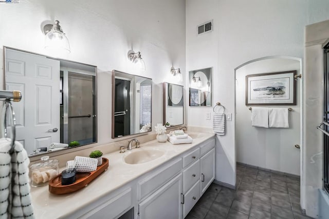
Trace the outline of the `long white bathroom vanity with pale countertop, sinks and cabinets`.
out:
<instances>
[{"instance_id":1,"label":"long white bathroom vanity with pale countertop, sinks and cabinets","mask_svg":"<svg viewBox=\"0 0 329 219\"><path fill-rule=\"evenodd\" d=\"M214 134L189 135L191 144L153 140L104 155L108 170L80 191L32 188L36 218L184 218L215 174Z\"/></svg>"}]
</instances>

